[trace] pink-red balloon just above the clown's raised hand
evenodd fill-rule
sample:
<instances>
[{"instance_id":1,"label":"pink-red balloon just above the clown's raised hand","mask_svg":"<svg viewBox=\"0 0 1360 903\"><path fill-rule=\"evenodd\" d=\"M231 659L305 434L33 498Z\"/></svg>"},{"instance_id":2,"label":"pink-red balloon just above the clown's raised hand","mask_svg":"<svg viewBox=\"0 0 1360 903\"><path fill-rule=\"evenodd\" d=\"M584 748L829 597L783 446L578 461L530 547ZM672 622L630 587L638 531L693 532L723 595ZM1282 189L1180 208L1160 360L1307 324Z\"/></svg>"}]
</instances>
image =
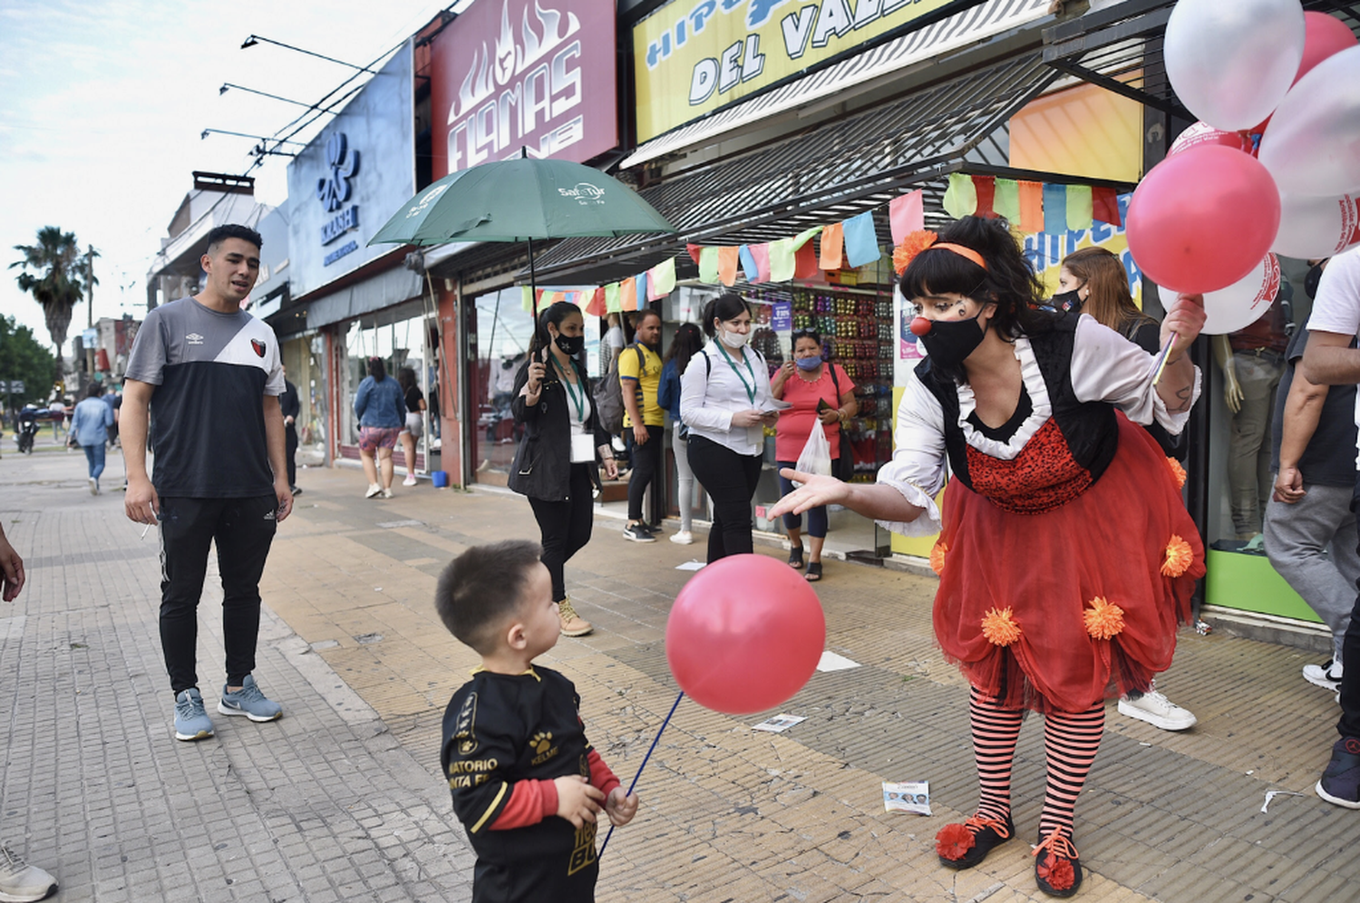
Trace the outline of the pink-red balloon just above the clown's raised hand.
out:
<instances>
[{"instance_id":1,"label":"pink-red balloon just above the clown's raised hand","mask_svg":"<svg viewBox=\"0 0 1360 903\"><path fill-rule=\"evenodd\" d=\"M1159 286L1225 288L1261 262L1280 230L1280 192L1253 156L1205 144L1168 156L1129 203L1129 252Z\"/></svg>"}]
</instances>

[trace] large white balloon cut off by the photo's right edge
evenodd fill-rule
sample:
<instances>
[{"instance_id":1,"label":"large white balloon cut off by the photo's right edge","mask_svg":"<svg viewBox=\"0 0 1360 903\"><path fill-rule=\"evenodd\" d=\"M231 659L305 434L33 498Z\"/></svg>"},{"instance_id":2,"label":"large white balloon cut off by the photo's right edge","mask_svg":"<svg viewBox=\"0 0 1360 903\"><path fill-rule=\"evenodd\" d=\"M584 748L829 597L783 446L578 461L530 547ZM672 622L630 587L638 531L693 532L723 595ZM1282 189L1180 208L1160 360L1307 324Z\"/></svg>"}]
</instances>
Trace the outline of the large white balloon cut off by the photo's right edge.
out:
<instances>
[{"instance_id":1,"label":"large white balloon cut off by the photo's right edge","mask_svg":"<svg viewBox=\"0 0 1360 903\"><path fill-rule=\"evenodd\" d=\"M1360 194L1360 46L1333 53L1289 88L1258 159L1281 192Z\"/></svg>"}]
</instances>

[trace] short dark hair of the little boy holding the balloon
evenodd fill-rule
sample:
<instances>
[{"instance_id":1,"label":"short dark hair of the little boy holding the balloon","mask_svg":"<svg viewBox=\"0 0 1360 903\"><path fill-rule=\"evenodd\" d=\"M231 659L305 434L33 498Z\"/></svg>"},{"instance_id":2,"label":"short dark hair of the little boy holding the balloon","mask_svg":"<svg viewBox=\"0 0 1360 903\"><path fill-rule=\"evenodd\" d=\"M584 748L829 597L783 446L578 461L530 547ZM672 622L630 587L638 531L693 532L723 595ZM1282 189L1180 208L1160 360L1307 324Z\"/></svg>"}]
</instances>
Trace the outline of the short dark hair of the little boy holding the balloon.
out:
<instances>
[{"instance_id":1,"label":"short dark hair of the little boy holding the balloon","mask_svg":"<svg viewBox=\"0 0 1360 903\"><path fill-rule=\"evenodd\" d=\"M528 540L473 545L439 574L439 620L460 642L490 654L500 627L520 611L529 571L541 556L543 547Z\"/></svg>"}]
</instances>

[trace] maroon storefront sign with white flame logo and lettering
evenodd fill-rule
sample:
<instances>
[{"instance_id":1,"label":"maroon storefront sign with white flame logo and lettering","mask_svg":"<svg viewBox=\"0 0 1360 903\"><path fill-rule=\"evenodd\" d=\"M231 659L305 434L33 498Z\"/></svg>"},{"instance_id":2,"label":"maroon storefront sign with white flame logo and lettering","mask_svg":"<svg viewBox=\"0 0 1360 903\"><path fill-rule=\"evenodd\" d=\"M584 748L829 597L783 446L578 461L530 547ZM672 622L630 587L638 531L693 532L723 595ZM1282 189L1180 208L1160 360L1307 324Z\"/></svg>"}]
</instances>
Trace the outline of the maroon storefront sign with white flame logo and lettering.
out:
<instances>
[{"instance_id":1,"label":"maroon storefront sign with white flame logo and lettering","mask_svg":"<svg viewBox=\"0 0 1360 903\"><path fill-rule=\"evenodd\" d=\"M432 46L435 174L521 147L579 163L617 144L613 23L611 0L469 7Z\"/></svg>"}]
</instances>

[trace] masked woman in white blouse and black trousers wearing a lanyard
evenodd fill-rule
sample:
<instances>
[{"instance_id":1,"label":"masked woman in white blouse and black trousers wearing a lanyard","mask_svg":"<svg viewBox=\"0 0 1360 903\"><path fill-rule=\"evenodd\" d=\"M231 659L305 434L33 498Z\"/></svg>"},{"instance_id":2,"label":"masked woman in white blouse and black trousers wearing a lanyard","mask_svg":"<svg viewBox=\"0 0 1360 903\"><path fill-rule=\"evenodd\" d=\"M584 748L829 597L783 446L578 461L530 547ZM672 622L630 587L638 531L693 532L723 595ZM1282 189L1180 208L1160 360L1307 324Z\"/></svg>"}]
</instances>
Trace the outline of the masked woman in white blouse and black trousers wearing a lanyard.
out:
<instances>
[{"instance_id":1,"label":"masked woman in white blouse and black trousers wearing a lanyard","mask_svg":"<svg viewBox=\"0 0 1360 903\"><path fill-rule=\"evenodd\" d=\"M703 309L714 341L680 378L680 420L690 430L690 468L713 498L709 563L749 553L751 498L760 479L764 427L779 422L764 358L747 347L751 310L728 292Z\"/></svg>"}]
</instances>

